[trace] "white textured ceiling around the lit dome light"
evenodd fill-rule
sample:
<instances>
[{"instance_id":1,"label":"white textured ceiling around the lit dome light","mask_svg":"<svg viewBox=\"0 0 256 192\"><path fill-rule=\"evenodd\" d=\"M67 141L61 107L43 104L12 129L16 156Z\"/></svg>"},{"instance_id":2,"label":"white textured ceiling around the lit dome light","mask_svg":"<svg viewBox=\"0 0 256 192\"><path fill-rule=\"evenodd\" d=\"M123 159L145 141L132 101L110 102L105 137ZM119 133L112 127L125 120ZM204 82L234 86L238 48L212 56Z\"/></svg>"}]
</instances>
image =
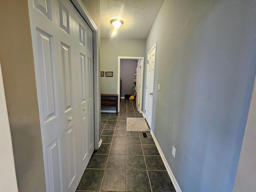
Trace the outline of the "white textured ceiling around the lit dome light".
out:
<instances>
[{"instance_id":1,"label":"white textured ceiling around the lit dome light","mask_svg":"<svg viewBox=\"0 0 256 192\"><path fill-rule=\"evenodd\" d=\"M142 38L148 36L164 0L100 0L101 38ZM112 19L124 24L112 36Z\"/></svg>"}]
</instances>

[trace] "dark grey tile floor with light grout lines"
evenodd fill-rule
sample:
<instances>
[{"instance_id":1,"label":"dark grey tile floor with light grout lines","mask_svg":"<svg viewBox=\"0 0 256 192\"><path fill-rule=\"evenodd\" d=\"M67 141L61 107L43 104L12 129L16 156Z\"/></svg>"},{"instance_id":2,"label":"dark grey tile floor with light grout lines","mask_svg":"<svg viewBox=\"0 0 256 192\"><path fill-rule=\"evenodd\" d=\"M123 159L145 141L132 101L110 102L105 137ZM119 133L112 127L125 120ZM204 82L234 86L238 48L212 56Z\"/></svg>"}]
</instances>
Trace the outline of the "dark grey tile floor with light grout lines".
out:
<instances>
[{"instance_id":1,"label":"dark grey tile floor with light grout lines","mask_svg":"<svg viewBox=\"0 0 256 192\"><path fill-rule=\"evenodd\" d=\"M100 148L92 158L77 192L175 192L154 140L147 132L126 132L126 118L141 118L136 103L120 101L120 112L101 115Z\"/></svg>"}]
</instances>

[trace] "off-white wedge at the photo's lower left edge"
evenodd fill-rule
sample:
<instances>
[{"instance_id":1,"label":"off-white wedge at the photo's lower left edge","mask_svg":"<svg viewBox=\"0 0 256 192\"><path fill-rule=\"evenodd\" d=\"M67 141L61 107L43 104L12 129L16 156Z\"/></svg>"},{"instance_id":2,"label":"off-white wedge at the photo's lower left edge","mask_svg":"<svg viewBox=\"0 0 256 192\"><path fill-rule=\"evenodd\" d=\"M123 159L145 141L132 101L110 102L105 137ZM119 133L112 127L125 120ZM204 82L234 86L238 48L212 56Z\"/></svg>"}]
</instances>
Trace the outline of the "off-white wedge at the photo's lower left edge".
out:
<instances>
[{"instance_id":1,"label":"off-white wedge at the photo's lower left edge","mask_svg":"<svg viewBox=\"0 0 256 192\"><path fill-rule=\"evenodd\" d=\"M18 192L14 156L12 152L12 137L8 119L4 83L0 64L0 191Z\"/></svg>"}]
</instances>

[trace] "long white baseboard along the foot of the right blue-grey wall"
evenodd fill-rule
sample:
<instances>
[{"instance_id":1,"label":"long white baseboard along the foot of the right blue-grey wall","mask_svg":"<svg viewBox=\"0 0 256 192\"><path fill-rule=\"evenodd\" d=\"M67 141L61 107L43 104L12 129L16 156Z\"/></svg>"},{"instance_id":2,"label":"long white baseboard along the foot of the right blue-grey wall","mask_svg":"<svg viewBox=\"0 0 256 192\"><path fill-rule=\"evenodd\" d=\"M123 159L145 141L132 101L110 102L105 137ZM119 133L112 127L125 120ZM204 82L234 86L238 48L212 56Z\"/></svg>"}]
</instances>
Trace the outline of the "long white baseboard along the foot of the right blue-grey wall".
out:
<instances>
[{"instance_id":1,"label":"long white baseboard along the foot of the right blue-grey wall","mask_svg":"<svg viewBox=\"0 0 256 192\"><path fill-rule=\"evenodd\" d=\"M144 116L144 114L143 114L143 116ZM164 162L164 166L165 166L165 168L166 168L166 170L168 172L168 175L169 175L169 177L170 177L170 179L172 181L172 184L173 184L176 192L182 192L181 189L180 189L180 186L178 185L178 182L176 181L176 179L174 177L174 174L172 173L172 170L171 170L171 168L170 168L170 166L169 166L169 164L168 164L168 162L167 162L167 160L166 160L166 158L165 158L165 156L164 156L164 154L162 152L162 149L160 148L160 146L159 146L159 144L158 144L158 142L156 140L156 137L155 137L154 133L152 132L152 130L150 130L150 133L151 133L151 135L152 135L152 137L153 137L153 139L154 139L154 141L156 143L156 147L158 149L158 152L160 153L160 156L161 156L161 158L162 158L162 160Z\"/></svg>"}]
</instances>

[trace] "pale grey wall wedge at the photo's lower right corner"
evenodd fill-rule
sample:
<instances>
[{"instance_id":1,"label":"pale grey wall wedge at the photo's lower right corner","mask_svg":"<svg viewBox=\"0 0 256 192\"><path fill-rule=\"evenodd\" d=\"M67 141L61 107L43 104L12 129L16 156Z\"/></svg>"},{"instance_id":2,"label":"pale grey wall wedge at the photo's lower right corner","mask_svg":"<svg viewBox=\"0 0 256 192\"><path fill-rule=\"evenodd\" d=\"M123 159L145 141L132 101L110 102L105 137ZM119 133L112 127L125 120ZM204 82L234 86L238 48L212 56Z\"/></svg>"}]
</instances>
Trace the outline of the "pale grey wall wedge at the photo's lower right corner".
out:
<instances>
[{"instance_id":1,"label":"pale grey wall wedge at the photo's lower right corner","mask_svg":"<svg viewBox=\"0 0 256 192\"><path fill-rule=\"evenodd\" d=\"M233 192L256 191L256 80Z\"/></svg>"}]
</instances>

